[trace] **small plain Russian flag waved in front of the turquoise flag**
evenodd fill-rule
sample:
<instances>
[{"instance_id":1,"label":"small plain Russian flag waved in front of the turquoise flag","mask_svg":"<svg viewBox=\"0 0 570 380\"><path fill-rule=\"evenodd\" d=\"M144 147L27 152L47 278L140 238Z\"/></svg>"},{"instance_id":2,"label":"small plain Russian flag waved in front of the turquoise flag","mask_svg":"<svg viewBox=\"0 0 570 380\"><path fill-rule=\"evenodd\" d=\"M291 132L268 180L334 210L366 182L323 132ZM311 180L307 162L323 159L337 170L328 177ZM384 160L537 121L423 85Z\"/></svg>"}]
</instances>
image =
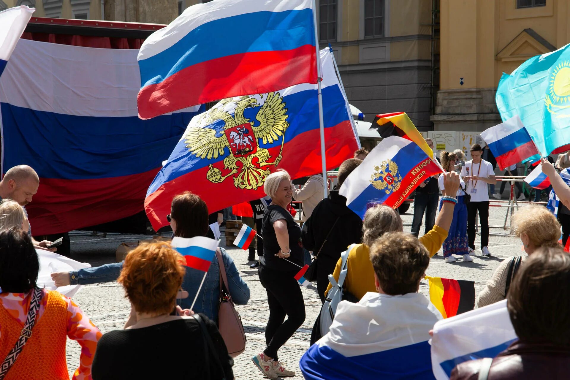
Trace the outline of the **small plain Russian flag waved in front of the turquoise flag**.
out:
<instances>
[{"instance_id":1,"label":"small plain Russian flag waved in front of the turquoise flag","mask_svg":"<svg viewBox=\"0 0 570 380\"><path fill-rule=\"evenodd\" d=\"M501 170L539 154L519 116L492 126L482 132L481 137L491 149Z\"/></svg>"}]
</instances>

